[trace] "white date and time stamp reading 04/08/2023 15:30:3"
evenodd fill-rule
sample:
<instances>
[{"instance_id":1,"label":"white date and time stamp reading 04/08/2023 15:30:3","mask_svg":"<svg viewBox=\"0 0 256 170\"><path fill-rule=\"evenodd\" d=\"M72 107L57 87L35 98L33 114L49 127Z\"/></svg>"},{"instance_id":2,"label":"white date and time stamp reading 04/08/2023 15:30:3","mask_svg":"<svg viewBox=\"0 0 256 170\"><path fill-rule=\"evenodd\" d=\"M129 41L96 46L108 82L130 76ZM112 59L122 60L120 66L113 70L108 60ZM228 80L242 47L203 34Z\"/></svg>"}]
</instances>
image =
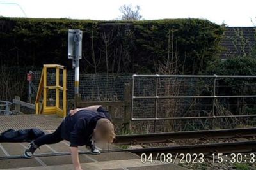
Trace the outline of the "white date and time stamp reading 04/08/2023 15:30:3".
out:
<instances>
[{"instance_id":1,"label":"white date and time stamp reading 04/08/2023 15:30:3","mask_svg":"<svg viewBox=\"0 0 256 170\"><path fill-rule=\"evenodd\" d=\"M230 163L256 163L256 153L212 153L211 157L213 163L221 164L223 162ZM205 161L204 153L157 153L156 157L153 157L153 154L141 154L141 162L151 162L156 163L160 161L161 163L193 163L193 164L202 164Z\"/></svg>"}]
</instances>

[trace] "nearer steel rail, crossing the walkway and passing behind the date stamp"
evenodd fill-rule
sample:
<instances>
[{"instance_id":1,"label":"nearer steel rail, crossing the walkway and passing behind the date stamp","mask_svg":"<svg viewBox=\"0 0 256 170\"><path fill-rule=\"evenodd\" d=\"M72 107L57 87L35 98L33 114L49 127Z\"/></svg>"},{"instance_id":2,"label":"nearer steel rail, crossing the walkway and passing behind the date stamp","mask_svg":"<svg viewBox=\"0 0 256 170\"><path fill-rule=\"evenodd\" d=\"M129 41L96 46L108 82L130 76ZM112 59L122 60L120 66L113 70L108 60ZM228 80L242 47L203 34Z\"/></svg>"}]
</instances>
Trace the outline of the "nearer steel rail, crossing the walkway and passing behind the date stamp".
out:
<instances>
[{"instance_id":1,"label":"nearer steel rail, crossing the walkway and passing behind the date stamp","mask_svg":"<svg viewBox=\"0 0 256 170\"><path fill-rule=\"evenodd\" d=\"M137 155L146 154L156 157L157 154L167 153L203 153L204 155L211 155L211 153L242 153L242 152L255 152L256 141L239 141L232 143L211 143L203 145L185 145L185 146L171 146L161 148L140 148L140 149L112 149L102 150L102 153L107 152L132 152ZM90 154L90 152L79 152L79 154ZM38 153L34 157L52 157L70 155L70 152L59 153ZM0 157L0 160L4 159L20 159L24 158L24 155L11 155Z\"/></svg>"}]
</instances>

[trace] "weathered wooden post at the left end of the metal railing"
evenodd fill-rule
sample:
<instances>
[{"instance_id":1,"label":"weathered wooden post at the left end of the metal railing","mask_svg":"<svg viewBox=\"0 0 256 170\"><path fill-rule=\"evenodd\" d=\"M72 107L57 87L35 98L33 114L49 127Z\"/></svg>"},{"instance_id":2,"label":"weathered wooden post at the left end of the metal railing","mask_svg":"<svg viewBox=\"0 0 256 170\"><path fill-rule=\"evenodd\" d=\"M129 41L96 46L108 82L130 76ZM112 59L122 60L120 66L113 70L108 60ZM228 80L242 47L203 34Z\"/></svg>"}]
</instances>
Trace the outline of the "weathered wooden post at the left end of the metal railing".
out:
<instances>
[{"instance_id":1,"label":"weathered wooden post at the left end of the metal railing","mask_svg":"<svg viewBox=\"0 0 256 170\"><path fill-rule=\"evenodd\" d=\"M124 118L129 120L129 122L124 124L125 131L130 132L131 129L131 85L130 83L125 83L124 85L124 101L125 103L128 103L127 105L125 104L124 106Z\"/></svg>"}]
</instances>

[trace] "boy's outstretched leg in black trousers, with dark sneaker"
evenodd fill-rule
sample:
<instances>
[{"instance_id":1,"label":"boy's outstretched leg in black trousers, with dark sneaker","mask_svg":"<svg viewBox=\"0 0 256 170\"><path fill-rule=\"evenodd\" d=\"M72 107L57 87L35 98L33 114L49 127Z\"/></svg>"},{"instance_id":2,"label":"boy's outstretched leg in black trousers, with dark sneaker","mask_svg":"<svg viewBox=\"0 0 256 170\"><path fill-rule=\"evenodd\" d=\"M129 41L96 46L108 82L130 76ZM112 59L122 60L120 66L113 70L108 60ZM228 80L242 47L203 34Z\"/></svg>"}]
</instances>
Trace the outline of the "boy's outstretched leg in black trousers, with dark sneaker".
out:
<instances>
[{"instance_id":1,"label":"boy's outstretched leg in black trousers, with dark sneaker","mask_svg":"<svg viewBox=\"0 0 256 170\"><path fill-rule=\"evenodd\" d=\"M35 141L32 141L29 144L28 148L25 150L24 156L26 158L31 158L35 150L40 146L44 144L53 144L53 143L58 143L62 141L63 140L63 138L61 138L62 124L63 123L61 123L59 127L56 129L56 131L54 131L52 134L46 134L44 136L40 136L39 138L35 139Z\"/></svg>"}]
</instances>

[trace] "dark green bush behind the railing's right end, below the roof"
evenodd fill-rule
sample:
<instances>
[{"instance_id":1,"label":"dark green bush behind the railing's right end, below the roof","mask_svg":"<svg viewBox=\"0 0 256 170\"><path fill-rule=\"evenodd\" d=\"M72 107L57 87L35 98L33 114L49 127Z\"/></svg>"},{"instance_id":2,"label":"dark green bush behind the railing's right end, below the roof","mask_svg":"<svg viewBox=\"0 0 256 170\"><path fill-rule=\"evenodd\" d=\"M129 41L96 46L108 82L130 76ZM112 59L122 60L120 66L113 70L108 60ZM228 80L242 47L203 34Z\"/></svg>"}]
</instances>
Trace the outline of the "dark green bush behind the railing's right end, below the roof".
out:
<instances>
[{"instance_id":1,"label":"dark green bush behind the railing's right end, below the roof","mask_svg":"<svg viewBox=\"0 0 256 170\"><path fill-rule=\"evenodd\" d=\"M217 75L249 75L256 74L256 58L254 57L232 57L220 62L209 74ZM217 86L218 95L255 95L255 78L225 78L219 79ZM230 108L232 113L255 114L255 98L238 97L227 99L227 103L237 107ZM239 108L238 106L241 106Z\"/></svg>"}]
</instances>

